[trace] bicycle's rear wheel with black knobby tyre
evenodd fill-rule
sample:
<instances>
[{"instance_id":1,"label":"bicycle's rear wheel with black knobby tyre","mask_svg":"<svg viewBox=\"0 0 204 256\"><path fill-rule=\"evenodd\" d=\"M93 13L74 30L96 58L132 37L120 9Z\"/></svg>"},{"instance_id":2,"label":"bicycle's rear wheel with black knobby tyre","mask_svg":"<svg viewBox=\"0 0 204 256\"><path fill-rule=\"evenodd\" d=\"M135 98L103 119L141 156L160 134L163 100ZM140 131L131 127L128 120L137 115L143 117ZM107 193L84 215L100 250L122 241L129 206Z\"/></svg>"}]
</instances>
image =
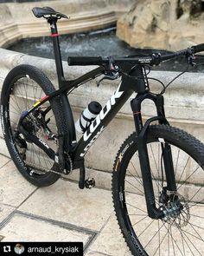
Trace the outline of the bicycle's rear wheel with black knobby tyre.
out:
<instances>
[{"instance_id":1,"label":"bicycle's rear wheel with black knobby tyre","mask_svg":"<svg viewBox=\"0 0 204 256\"><path fill-rule=\"evenodd\" d=\"M60 178L53 171L58 164L34 143L19 133L17 124L24 111L29 110L43 96L54 92L53 84L39 69L20 65L12 69L3 82L1 108L3 134L10 156L20 173L38 187L49 186ZM59 112L56 100L45 102L23 121L23 127L57 152L57 124L54 115Z\"/></svg>"}]
</instances>

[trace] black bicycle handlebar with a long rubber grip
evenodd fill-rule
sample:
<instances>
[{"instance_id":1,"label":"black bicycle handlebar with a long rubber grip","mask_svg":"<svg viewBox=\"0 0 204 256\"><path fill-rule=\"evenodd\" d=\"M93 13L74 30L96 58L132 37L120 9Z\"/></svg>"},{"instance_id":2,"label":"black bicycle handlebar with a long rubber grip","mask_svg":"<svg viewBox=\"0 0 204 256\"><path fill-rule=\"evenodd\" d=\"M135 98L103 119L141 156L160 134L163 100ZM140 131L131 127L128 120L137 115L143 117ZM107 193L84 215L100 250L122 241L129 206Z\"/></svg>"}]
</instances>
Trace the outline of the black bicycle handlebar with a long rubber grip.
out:
<instances>
[{"instance_id":1,"label":"black bicycle handlebar with a long rubber grip","mask_svg":"<svg viewBox=\"0 0 204 256\"><path fill-rule=\"evenodd\" d=\"M112 60L116 64L129 62L132 64L150 64L158 65L160 62L169 60L176 56L193 56L195 53L204 51L204 43L194 45L188 49L182 49L174 53L161 55L160 53L153 53L151 56L125 56L125 57L112 57ZM68 59L69 66L79 65L98 65L105 66L110 63L110 57L101 57L101 56L69 56Z\"/></svg>"}]
</instances>

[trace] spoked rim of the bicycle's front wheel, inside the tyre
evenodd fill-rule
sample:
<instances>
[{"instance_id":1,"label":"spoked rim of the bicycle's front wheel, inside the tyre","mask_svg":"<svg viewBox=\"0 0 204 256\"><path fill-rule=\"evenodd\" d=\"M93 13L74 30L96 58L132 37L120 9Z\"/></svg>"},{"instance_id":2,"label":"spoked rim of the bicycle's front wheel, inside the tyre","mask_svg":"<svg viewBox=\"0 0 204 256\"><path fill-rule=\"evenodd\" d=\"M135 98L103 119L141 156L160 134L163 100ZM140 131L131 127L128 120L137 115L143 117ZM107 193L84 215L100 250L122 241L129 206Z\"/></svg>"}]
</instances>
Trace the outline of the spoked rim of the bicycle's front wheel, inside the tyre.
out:
<instances>
[{"instance_id":1,"label":"spoked rim of the bicycle's front wheel, inside the tyre","mask_svg":"<svg viewBox=\"0 0 204 256\"><path fill-rule=\"evenodd\" d=\"M156 207L159 206L158 196L162 187L160 144L159 141L148 144ZM138 154L132 152L130 161L123 167L126 171L120 176L121 182L124 181L119 195L120 199L123 197L121 211L124 221L137 250L148 255L204 255L204 172L181 148L174 145L171 148L178 196L185 206L182 213L169 220L148 217ZM197 184L197 181L202 183Z\"/></svg>"}]
</instances>

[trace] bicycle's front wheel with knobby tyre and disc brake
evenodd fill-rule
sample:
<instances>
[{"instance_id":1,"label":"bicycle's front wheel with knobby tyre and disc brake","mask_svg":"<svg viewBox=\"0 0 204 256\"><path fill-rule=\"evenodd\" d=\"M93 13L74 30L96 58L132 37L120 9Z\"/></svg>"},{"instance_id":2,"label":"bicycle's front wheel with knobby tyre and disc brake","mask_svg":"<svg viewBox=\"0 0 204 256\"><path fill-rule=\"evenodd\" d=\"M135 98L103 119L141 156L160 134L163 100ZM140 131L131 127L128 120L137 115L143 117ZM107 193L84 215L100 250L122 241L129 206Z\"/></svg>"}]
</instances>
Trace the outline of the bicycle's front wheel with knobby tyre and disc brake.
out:
<instances>
[{"instance_id":1,"label":"bicycle's front wheel with knobby tyre and disc brake","mask_svg":"<svg viewBox=\"0 0 204 256\"><path fill-rule=\"evenodd\" d=\"M164 200L161 143L165 142L171 146L177 191ZM162 220L147 213L136 134L124 141L113 167L114 208L131 253L204 255L204 145L178 128L154 125L148 130L147 147L156 207L165 211Z\"/></svg>"}]
</instances>

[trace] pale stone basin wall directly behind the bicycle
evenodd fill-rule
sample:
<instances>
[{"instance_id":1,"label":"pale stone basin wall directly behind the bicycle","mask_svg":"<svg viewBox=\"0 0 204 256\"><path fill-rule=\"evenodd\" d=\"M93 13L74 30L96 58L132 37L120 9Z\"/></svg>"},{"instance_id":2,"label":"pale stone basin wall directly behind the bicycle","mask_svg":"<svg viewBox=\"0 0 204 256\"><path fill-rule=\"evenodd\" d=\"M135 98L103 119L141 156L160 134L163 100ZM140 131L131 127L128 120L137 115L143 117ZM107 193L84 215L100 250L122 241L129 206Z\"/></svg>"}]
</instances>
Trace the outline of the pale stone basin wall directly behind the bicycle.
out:
<instances>
[{"instance_id":1,"label":"pale stone basin wall directly behind the bicycle","mask_svg":"<svg viewBox=\"0 0 204 256\"><path fill-rule=\"evenodd\" d=\"M5 75L18 64L29 63L35 65L48 75L49 79L57 88L54 60L27 56L6 49L0 49L2 61L0 63L0 89L2 87ZM63 62L65 75L69 79L76 78L93 67L68 67L67 62ZM164 83L169 82L177 73L152 71L151 76L161 79ZM107 100L117 89L119 81L103 82L100 87L96 86L95 81L86 82L85 85L73 91L69 96L73 108L75 121L79 118L81 111L86 108L92 100L105 105ZM169 87L165 94L166 114L170 124L198 137L204 141L204 74L187 73ZM150 82L150 88L158 91L160 86L155 82ZM105 129L103 135L93 144L92 148L86 154L86 167L88 175L95 177L99 187L111 186L111 171L114 158L118 148L124 139L134 131L134 124L130 107L131 99L126 102L124 107L119 111L116 118ZM155 115L155 108L152 103L147 101L143 104L144 119ZM3 141L2 132L0 132L1 154L9 155ZM92 169L99 171L95 172ZM73 172L68 178L78 179L78 174Z\"/></svg>"}]
</instances>

